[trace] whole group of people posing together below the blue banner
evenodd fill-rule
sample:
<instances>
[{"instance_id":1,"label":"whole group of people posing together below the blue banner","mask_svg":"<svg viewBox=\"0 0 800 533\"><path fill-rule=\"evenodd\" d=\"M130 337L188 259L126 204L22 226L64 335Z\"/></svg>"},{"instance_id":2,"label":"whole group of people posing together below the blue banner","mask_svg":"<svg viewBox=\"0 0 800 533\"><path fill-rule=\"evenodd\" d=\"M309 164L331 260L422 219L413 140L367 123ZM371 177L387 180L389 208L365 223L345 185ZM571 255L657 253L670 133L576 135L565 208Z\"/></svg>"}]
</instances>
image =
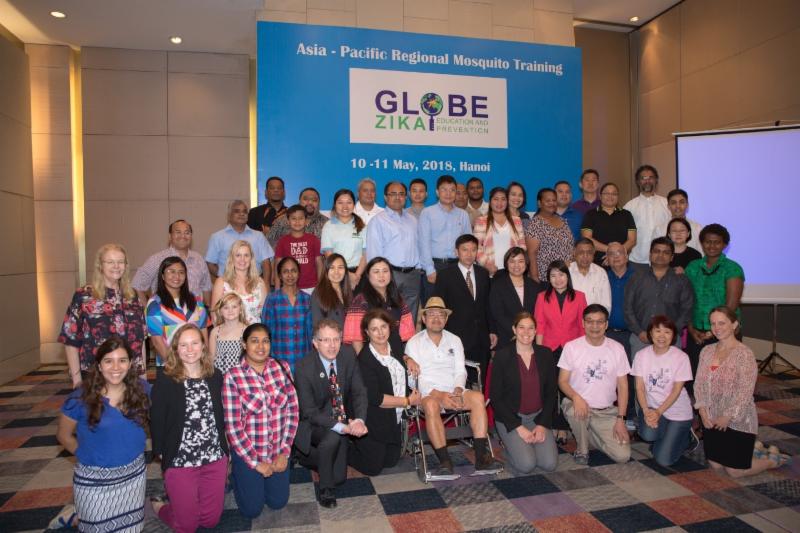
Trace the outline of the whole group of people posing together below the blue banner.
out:
<instances>
[{"instance_id":1,"label":"whole group of people posing together below the blue banner","mask_svg":"<svg viewBox=\"0 0 800 533\"><path fill-rule=\"evenodd\" d=\"M689 218L686 191L660 195L651 165L628 202L597 170L575 179L365 177L287 204L273 176L207 243L180 219L143 264L101 246L58 339L74 390L57 438L77 458L63 522L213 528L229 493L247 518L284 508L301 468L335 508L348 469L395 467L423 429L451 480L626 463L632 442L662 467L702 447L732 478L789 464L757 439L737 236Z\"/></svg>"}]
</instances>

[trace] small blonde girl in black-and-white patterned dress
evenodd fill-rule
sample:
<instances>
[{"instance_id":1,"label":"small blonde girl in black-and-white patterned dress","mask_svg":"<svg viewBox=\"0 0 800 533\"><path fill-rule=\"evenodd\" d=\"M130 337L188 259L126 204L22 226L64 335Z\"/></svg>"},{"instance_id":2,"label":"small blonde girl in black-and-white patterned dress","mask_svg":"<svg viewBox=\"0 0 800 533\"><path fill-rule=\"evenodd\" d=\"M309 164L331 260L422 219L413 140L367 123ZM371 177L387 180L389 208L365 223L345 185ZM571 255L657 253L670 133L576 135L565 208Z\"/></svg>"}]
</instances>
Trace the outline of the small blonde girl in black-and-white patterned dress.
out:
<instances>
[{"instance_id":1,"label":"small blonde girl in black-and-white patterned dress","mask_svg":"<svg viewBox=\"0 0 800 533\"><path fill-rule=\"evenodd\" d=\"M223 374L239 364L242 355L242 332L247 327L244 304L238 294L229 292L214 308L214 325L208 352L214 366Z\"/></svg>"}]
</instances>

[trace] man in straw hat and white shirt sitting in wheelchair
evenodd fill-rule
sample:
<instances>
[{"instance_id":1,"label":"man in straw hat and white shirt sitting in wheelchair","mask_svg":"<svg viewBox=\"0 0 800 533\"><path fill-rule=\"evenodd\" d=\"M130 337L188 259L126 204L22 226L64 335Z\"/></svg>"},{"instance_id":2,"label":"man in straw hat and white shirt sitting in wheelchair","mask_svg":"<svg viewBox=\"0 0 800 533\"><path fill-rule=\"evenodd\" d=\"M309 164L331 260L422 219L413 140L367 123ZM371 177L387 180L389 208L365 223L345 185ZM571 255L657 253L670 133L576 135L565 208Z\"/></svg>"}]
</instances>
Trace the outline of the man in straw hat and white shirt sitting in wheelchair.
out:
<instances>
[{"instance_id":1,"label":"man in straw hat and white shirt sitting in wheelchair","mask_svg":"<svg viewBox=\"0 0 800 533\"><path fill-rule=\"evenodd\" d=\"M433 475L453 475L453 462L447 453L447 439L441 415L444 409L463 409L470 412L475 474L496 474L502 467L489 451L483 395L464 390L467 382L464 347L461 339L444 329L450 313L452 311L445 307L441 298L430 298L422 310L422 321L426 329L409 339L404 356L409 371L418 376L417 385L425 411L425 428L433 451L439 459L439 469Z\"/></svg>"}]
</instances>

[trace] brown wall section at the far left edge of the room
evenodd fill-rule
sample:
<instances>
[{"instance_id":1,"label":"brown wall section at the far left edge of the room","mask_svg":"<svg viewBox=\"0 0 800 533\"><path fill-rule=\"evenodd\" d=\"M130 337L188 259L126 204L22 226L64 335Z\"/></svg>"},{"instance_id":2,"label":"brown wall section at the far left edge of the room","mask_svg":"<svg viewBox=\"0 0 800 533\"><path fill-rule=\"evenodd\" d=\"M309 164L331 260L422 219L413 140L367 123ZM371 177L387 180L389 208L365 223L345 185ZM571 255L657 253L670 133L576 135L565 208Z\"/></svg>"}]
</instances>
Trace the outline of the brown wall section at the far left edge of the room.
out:
<instances>
[{"instance_id":1,"label":"brown wall section at the far left edge of the room","mask_svg":"<svg viewBox=\"0 0 800 533\"><path fill-rule=\"evenodd\" d=\"M0 383L39 365L28 57L0 37Z\"/></svg>"}]
</instances>

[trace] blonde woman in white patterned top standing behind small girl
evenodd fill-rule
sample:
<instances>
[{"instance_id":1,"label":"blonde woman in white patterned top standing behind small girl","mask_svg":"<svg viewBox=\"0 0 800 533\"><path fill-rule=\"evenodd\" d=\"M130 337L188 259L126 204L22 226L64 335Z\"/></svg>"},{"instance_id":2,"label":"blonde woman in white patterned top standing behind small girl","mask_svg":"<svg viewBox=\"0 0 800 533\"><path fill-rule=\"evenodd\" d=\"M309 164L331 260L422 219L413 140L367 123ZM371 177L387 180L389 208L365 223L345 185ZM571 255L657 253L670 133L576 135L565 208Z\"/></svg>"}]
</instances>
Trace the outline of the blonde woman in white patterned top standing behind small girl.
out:
<instances>
[{"instance_id":1,"label":"blonde woman in white patterned top standing behind small girl","mask_svg":"<svg viewBox=\"0 0 800 533\"><path fill-rule=\"evenodd\" d=\"M253 247L247 241L239 240L231 246L225 262L225 273L217 278L211 291L211 307L215 307L220 298L229 292L238 294L242 299L248 324L260 320L268 290L258 275Z\"/></svg>"}]
</instances>

